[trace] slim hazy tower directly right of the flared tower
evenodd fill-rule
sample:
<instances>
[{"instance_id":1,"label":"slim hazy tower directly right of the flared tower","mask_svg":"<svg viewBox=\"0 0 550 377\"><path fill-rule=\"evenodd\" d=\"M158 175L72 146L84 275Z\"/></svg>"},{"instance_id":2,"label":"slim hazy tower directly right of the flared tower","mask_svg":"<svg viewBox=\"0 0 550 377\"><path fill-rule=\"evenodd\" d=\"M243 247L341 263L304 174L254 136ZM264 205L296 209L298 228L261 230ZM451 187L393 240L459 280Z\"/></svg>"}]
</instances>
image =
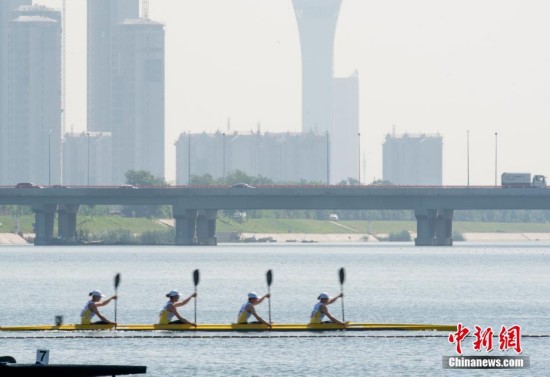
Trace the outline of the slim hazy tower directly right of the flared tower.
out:
<instances>
[{"instance_id":1,"label":"slim hazy tower directly right of the flared tower","mask_svg":"<svg viewBox=\"0 0 550 377\"><path fill-rule=\"evenodd\" d=\"M359 75L334 79L334 129L330 160L331 182L359 179Z\"/></svg>"}]
</instances>

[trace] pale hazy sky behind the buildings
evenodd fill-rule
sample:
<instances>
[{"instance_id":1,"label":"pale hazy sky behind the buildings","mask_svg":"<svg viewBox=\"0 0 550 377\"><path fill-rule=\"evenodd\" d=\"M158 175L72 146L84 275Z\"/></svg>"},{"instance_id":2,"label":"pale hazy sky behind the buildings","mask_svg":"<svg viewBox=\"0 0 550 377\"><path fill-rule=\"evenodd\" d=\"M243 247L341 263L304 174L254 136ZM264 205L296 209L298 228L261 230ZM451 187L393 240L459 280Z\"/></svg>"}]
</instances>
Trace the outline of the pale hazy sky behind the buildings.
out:
<instances>
[{"instance_id":1,"label":"pale hazy sky behind the buildings","mask_svg":"<svg viewBox=\"0 0 550 377\"><path fill-rule=\"evenodd\" d=\"M60 8L61 0L35 3ZM86 123L86 0L67 1L67 128ZM166 176L182 132L301 128L291 0L150 0L166 25ZM550 176L548 0L343 0L336 76L359 72L362 180L382 177L387 133L443 136L443 182ZM495 132L498 137L495 138ZM495 143L495 139L497 143ZM500 178L499 178L500 182Z\"/></svg>"}]
</instances>

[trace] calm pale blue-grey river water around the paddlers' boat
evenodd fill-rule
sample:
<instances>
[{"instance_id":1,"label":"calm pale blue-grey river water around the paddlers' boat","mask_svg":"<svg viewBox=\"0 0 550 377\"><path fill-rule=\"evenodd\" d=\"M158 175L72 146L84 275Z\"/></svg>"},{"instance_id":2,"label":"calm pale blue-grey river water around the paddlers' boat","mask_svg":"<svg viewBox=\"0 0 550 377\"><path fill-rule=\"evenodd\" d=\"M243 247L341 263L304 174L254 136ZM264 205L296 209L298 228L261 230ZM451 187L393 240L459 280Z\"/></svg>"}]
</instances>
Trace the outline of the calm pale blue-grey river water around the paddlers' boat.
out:
<instances>
[{"instance_id":1,"label":"calm pale blue-grey river water around the paddlers' boat","mask_svg":"<svg viewBox=\"0 0 550 377\"><path fill-rule=\"evenodd\" d=\"M121 273L117 320L154 323L177 289L193 292L199 269L197 320L231 323L246 293L267 291L273 270L274 322L306 322L317 295L340 292L345 267L345 319L354 322L463 323L473 329L522 326L523 355L531 368L450 371L441 357L454 355L447 333L351 332L324 336L193 338L176 333L0 333L0 354L34 362L38 348L50 363L147 365L147 376L359 376L547 375L550 368L550 244L468 245L415 248L373 245L220 245L218 247L0 247L0 324L79 321L88 292L110 295ZM342 317L340 301L331 312ZM114 319L115 305L100 308ZM268 317L267 301L257 307ZM193 319L193 302L180 310ZM104 337L104 336L108 337ZM143 335L138 338L136 335ZM280 337L283 335L283 337ZM296 335L295 337L288 337ZM426 337L418 337L426 335ZM529 336L528 336L529 335ZM152 337L155 336L155 337ZM397 336L397 337L396 337ZM514 356L514 351L490 355ZM465 354L476 354L471 341ZM480 355L487 354L482 351Z\"/></svg>"}]
</instances>

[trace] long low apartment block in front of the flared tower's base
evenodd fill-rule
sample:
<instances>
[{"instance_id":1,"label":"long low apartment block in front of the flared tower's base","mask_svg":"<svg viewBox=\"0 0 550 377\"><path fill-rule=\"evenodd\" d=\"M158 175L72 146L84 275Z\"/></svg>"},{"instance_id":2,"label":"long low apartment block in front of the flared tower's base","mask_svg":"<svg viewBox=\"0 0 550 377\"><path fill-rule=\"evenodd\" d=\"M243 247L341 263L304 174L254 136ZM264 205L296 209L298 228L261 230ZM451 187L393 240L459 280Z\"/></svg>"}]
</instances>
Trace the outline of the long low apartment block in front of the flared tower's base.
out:
<instances>
[{"instance_id":1,"label":"long low apartment block in front of the flared tower's base","mask_svg":"<svg viewBox=\"0 0 550 377\"><path fill-rule=\"evenodd\" d=\"M176 142L176 184L193 175L223 178L240 170L276 183L328 182L328 139L314 132L185 133Z\"/></svg>"}]
</instances>

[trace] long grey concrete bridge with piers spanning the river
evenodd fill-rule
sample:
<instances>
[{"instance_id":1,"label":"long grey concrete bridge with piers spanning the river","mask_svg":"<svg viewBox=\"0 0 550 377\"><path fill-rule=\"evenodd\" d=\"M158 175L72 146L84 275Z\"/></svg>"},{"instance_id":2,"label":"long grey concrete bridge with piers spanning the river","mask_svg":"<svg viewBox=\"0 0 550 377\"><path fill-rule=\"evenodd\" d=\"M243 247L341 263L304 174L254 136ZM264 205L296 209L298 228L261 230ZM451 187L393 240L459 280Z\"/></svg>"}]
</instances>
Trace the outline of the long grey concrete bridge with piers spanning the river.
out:
<instances>
[{"instance_id":1,"label":"long grey concrete bridge with piers spanning the river","mask_svg":"<svg viewBox=\"0 0 550 377\"><path fill-rule=\"evenodd\" d=\"M76 235L80 205L171 205L176 245L215 245L219 210L413 210L417 246L451 246L455 210L550 209L550 189L502 187L265 186L0 188L0 205L30 205L35 245Z\"/></svg>"}]
</instances>

